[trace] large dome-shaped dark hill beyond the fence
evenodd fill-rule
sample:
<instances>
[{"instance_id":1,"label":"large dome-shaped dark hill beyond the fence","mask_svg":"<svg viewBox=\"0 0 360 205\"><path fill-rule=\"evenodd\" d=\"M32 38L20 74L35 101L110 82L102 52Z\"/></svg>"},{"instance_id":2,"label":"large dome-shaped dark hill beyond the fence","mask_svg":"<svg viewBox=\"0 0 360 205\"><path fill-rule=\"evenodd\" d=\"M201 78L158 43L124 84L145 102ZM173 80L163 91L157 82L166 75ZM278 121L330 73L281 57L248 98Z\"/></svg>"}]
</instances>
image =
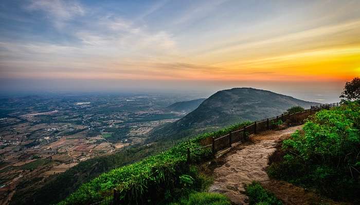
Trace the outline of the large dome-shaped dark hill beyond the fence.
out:
<instances>
[{"instance_id":1,"label":"large dome-shaped dark hill beyond the fence","mask_svg":"<svg viewBox=\"0 0 360 205\"><path fill-rule=\"evenodd\" d=\"M203 101L183 118L160 127L151 133L152 138L199 134L246 120L259 120L280 115L288 108L316 105L309 101L271 91L253 88L233 88L218 91Z\"/></svg>"}]
</instances>

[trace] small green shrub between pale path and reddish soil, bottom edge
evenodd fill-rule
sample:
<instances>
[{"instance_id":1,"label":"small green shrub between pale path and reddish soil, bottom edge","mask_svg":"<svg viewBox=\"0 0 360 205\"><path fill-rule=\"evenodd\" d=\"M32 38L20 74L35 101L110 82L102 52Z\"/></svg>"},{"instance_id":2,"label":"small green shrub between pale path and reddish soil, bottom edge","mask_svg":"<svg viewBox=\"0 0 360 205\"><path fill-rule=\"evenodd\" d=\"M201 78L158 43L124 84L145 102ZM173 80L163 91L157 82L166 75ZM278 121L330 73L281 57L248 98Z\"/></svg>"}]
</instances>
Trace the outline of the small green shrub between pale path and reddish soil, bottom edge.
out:
<instances>
[{"instance_id":1,"label":"small green shrub between pale path and reddish soil, bottom edge","mask_svg":"<svg viewBox=\"0 0 360 205\"><path fill-rule=\"evenodd\" d=\"M273 193L265 190L259 182L253 181L245 186L246 196L249 197L249 204L253 205L281 205L282 202L277 199Z\"/></svg>"}]
</instances>

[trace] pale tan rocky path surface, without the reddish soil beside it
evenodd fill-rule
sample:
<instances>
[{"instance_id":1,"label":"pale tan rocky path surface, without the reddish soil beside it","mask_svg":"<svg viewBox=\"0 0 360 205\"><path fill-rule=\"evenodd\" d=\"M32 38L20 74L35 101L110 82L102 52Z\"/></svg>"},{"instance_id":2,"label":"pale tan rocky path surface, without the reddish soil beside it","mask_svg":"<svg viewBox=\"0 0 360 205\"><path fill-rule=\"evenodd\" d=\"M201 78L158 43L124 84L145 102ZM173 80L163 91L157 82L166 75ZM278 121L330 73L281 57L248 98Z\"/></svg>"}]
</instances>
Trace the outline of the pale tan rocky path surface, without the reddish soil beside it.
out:
<instances>
[{"instance_id":1,"label":"pale tan rocky path surface, without the reddish soil beside it","mask_svg":"<svg viewBox=\"0 0 360 205\"><path fill-rule=\"evenodd\" d=\"M247 204L244 184L269 180L265 172L268 156L275 152L279 140L300 128L296 126L251 136L254 143L240 145L222 158L223 165L213 171L214 183L209 191L223 193L235 204Z\"/></svg>"}]
</instances>

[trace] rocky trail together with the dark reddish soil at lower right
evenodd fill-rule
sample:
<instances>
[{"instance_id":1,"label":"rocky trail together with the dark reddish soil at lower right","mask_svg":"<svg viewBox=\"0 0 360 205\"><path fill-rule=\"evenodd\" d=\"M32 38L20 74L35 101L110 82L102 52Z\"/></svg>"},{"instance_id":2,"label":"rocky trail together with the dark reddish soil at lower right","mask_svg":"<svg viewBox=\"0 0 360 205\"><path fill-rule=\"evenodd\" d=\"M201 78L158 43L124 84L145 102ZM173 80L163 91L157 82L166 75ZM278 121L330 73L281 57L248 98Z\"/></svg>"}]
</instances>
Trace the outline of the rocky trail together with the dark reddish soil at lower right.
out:
<instances>
[{"instance_id":1,"label":"rocky trail together with the dark reddish soil at lower right","mask_svg":"<svg viewBox=\"0 0 360 205\"><path fill-rule=\"evenodd\" d=\"M324 201L313 192L305 191L290 183L271 180L266 174L268 156L275 152L278 142L289 138L301 127L265 131L250 136L250 142L233 148L225 156L217 159L215 163L218 166L213 169L214 182L209 191L225 194L233 204L248 204L248 197L244 195L244 185L256 180L273 192L284 204L317 204L316 202L339 204L330 200Z\"/></svg>"}]
</instances>

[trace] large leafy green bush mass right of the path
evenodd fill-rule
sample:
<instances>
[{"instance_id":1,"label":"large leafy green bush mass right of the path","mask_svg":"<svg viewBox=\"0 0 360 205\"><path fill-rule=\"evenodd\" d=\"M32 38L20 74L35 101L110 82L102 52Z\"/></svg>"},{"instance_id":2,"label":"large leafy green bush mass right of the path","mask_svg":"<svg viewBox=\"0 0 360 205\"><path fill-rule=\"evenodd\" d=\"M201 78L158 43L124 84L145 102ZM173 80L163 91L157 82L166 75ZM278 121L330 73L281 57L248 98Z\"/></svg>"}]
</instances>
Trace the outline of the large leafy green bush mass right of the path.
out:
<instances>
[{"instance_id":1,"label":"large leafy green bush mass right of the path","mask_svg":"<svg viewBox=\"0 0 360 205\"><path fill-rule=\"evenodd\" d=\"M360 190L359 101L321 110L303 130L283 141L284 156L268 174L311 187L335 199L358 197Z\"/></svg>"}]
</instances>

